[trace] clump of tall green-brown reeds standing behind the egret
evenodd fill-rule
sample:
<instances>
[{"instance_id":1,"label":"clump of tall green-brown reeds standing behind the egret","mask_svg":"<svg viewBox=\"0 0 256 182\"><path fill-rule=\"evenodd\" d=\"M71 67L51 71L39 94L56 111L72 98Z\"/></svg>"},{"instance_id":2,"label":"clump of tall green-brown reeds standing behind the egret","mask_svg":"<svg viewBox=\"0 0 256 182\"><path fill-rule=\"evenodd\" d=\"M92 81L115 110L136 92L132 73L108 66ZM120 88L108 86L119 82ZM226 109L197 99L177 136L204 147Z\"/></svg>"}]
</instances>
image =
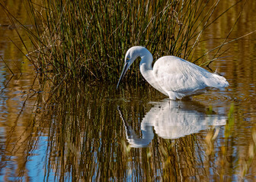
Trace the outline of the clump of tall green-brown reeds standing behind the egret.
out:
<instances>
[{"instance_id":1,"label":"clump of tall green-brown reeds standing behind the egret","mask_svg":"<svg viewBox=\"0 0 256 182\"><path fill-rule=\"evenodd\" d=\"M192 60L219 1L27 1L34 51L27 58L53 82L117 82L123 56L144 45L154 59L177 55ZM7 9L6 9L7 11ZM218 50L219 52L219 50ZM219 53L221 54L221 53ZM139 68L133 74L139 83ZM136 75L136 77L134 77ZM56 77L58 76L58 77Z\"/></svg>"}]
</instances>

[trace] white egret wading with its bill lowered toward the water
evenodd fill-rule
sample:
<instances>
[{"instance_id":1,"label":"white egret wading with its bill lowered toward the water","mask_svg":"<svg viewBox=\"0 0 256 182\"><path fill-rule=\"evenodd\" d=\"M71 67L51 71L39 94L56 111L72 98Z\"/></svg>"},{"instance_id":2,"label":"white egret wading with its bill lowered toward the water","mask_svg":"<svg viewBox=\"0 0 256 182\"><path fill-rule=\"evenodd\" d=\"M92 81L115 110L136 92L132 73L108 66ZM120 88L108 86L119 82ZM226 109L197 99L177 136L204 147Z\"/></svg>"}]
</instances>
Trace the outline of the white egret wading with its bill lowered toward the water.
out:
<instances>
[{"instance_id":1,"label":"white egret wading with its bill lowered toward the water","mask_svg":"<svg viewBox=\"0 0 256 182\"><path fill-rule=\"evenodd\" d=\"M155 89L170 99L182 99L205 93L207 88L225 88L229 86L225 77L212 74L209 71L175 56L164 56L155 61L148 49L134 46L126 52L123 71L117 83L117 88L126 71L136 58L140 57L139 70L146 81Z\"/></svg>"}]
</instances>

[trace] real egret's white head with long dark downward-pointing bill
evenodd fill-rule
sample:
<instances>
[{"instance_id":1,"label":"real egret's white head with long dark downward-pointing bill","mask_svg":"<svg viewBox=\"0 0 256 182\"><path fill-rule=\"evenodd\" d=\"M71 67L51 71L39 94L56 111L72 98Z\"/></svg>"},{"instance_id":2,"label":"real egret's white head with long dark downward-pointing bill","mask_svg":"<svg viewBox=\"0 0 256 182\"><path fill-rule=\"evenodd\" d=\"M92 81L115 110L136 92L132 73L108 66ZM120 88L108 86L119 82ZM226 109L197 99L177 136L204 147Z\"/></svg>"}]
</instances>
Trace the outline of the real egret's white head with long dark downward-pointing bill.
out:
<instances>
[{"instance_id":1,"label":"real egret's white head with long dark downward-pointing bill","mask_svg":"<svg viewBox=\"0 0 256 182\"><path fill-rule=\"evenodd\" d=\"M120 81L123 79L123 76L126 74L128 69L130 68L130 65L133 64L133 61L135 61L136 58L139 57L139 53L141 52L141 49L143 49L143 47L134 46L126 52L126 56L125 56L125 59L124 59L124 65L123 65L123 71L122 71L122 73L120 75L120 79L117 83L117 88L120 84Z\"/></svg>"}]
</instances>

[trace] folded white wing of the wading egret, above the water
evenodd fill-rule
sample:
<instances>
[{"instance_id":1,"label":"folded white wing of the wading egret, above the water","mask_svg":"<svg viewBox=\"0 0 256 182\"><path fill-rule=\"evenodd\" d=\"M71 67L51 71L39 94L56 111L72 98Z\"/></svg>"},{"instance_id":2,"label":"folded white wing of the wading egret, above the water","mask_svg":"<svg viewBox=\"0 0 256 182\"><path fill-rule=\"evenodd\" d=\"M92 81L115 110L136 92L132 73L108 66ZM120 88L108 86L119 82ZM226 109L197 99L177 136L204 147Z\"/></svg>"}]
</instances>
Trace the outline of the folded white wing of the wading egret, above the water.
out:
<instances>
[{"instance_id":1,"label":"folded white wing of the wading egret, above the water","mask_svg":"<svg viewBox=\"0 0 256 182\"><path fill-rule=\"evenodd\" d=\"M209 71L175 56L159 58L153 67L158 84L168 92L190 93L209 86Z\"/></svg>"}]
</instances>

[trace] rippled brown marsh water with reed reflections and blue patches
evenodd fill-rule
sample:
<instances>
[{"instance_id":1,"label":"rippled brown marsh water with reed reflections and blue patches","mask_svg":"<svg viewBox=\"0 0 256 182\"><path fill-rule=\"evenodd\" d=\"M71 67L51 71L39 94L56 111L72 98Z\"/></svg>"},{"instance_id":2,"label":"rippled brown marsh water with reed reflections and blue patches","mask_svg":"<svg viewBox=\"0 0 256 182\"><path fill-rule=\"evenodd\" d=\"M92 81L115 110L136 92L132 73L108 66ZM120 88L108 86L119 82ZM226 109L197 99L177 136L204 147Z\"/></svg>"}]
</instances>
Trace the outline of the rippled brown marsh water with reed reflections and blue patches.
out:
<instances>
[{"instance_id":1,"label":"rippled brown marsh water with reed reflections and blue patches","mask_svg":"<svg viewBox=\"0 0 256 182\"><path fill-rule=\"evenodd\" d=\"M245 5L232 37L256 30L250 7L255 2ZM237 15L231 11L205 39L225 37ZM211 64L228 89L181 101L130 83L119 90L66 83L53 94L44 85L37 93L42 80L8 39L18 41L14 35L0 27L0 55L14 72L0 61L1 181L256 180L255 34L227 45L229 57ZM196 54L219 42L206 41Z\"/></svg>"}]
</instances>

